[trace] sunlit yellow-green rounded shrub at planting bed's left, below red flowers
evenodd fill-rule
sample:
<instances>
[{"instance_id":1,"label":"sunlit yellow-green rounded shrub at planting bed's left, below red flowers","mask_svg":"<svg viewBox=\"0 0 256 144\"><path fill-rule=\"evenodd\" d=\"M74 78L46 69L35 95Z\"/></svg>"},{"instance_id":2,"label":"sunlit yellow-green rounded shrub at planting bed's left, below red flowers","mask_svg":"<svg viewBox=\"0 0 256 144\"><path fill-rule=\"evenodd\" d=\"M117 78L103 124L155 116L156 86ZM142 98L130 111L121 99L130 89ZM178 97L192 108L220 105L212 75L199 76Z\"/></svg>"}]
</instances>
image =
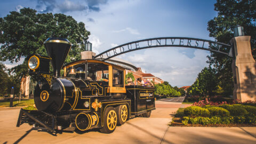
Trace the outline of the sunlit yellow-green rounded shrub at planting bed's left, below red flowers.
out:
<instances>
[{"instance_id":1,"label":"sunlit yellow-green rounded shrub at planting bed's left, below red flowers","mask_svg":"<svg viewBox=\"0 0 256 144\"><path fill-rule=\"evenodd\" d=\"M197 106L190 106L184 109L184 114L186 116L210 116L209 110L197 107Z\"/></svg>"}]
</instances>

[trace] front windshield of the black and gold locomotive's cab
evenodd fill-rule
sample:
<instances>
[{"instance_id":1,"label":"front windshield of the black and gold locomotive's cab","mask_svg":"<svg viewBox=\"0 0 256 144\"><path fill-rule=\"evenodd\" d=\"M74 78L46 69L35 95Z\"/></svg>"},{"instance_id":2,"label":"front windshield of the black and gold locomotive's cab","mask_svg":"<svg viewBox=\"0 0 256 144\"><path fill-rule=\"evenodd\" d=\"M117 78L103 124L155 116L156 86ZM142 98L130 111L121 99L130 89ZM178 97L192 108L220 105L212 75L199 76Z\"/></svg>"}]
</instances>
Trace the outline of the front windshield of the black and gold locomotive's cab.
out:
<instances>
[{"instance_id":1,"label":"front windshield of the black and gold locomotive's cab","mask_svg":"<svg viewBox=\"0 0 256 144\"><path fill-rule=\"evenodd\" d=\"M108 66L102 63L87 63L86 79L108 82Z\"/></svg>"}]
</instances>

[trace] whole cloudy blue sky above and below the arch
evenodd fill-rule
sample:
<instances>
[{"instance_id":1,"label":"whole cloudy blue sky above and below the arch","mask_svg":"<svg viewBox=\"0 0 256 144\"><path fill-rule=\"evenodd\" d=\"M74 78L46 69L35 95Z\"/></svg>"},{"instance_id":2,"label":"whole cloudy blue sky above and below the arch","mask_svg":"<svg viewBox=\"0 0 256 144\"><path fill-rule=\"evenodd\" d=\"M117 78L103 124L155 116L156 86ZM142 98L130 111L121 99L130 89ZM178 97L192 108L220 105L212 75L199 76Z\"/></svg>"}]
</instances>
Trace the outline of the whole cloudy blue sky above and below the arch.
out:
<instances>
[{"instance_id":1,"label":"whole cloudy blue sky above and below the arch","mask_svg":"<svg viewBox=\"0 0 256 144\"><path fill-rule=\"evenodd\" d=\"M1 1L0 17L22 7L40 13L64 13L85 23L91 32L93 51L103 52L111 47L139 39L154 37L194 37L210 39L207 22L217 16L215 1L120 1L120 0L17 0ZM134 51L119 58L141 67L175 86L194 83L197 74L208 64L208 51L164 47ZM14 65L5 62L7 67Z\"/></svg>"}]
</instances>

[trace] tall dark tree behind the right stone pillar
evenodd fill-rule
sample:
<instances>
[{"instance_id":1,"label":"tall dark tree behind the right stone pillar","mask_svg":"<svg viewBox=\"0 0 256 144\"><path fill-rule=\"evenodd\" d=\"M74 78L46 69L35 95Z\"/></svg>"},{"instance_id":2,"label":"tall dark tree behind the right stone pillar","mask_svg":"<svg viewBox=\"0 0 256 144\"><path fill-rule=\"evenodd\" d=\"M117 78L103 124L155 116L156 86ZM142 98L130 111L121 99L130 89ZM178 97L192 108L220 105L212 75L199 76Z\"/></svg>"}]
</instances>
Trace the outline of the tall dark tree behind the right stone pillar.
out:
<instances>
[{"instance_id":1,"label":"tall dark tree behind the right stone pillar","mask_svg":"<svg viewBox=\"0 0 256 144\"><path fill-rule=\"evenodd\" d=\"M233 28L237 25L244 27L245 35L251 36L252 54L256 58L256 1L217 0L214 10L218 16L208 22L207 30L210 37L222 43L229 43L234 37ZM213 46L214 47L214 46ZM217 47L215 47L217 49ZM228 51L227 51L228 52ZM210 65L217 72L219 86L225 95L232 94L234 89L231 62L226 55L211 52L208 57Z\"/></svg>"}]
</instances>

